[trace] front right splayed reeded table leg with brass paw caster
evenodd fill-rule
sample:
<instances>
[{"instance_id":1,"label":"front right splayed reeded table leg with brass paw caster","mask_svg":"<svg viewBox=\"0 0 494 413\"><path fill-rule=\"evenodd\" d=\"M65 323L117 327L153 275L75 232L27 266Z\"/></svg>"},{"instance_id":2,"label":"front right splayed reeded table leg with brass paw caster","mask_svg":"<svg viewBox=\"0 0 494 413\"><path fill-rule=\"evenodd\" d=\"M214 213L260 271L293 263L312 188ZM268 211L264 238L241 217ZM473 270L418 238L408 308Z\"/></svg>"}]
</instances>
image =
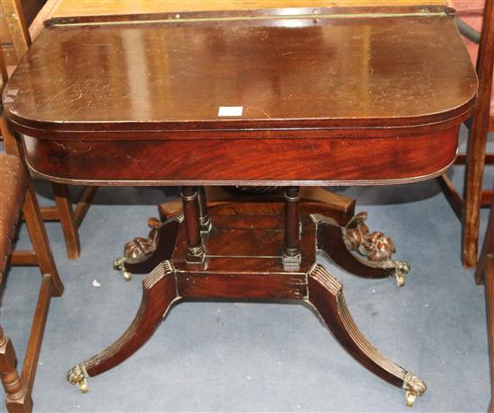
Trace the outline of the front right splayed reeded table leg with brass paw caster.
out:
<instances>
[{"instance_id":1,"label":"front right splayed reeded table leg with brass paw caster","mask_svg":"<svg viewBox=\"0 0 494 413\"><path fill-rule=\"evenodd\" d=\"M407 406L425 393L427 386L373 347L358 330L345 303L343 286L329 271L315 264L308 273L309 303L325 321L335 338L361 365L384 381L405 389Z\"/></svg>"}]
</instances>

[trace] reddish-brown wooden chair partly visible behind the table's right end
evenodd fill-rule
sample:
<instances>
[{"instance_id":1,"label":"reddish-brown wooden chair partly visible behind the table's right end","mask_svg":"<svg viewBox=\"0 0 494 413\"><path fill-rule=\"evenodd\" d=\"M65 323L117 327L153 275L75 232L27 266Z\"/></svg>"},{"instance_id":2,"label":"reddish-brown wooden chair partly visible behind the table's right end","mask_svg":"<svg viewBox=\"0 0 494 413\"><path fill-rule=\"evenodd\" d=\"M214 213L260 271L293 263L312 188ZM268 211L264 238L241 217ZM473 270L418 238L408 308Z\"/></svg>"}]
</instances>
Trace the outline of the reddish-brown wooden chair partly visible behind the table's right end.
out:
<instances>
[{"instance_id":1,"label":"reddish-brown wooden chair partly visible behind the table's right end","mask_svg":"<svg viewBox=\"0 0 494 413\"><path fill-rule=\"evenodd\" d=\"M456 160L456 164L466 165L463 198L446 175L439 179L446 198L462 221L462 258L465 267L475 267L477 264L481 206L490 206L494 194L492 190L482 190L484 166L494 164L494 154L486 154L488 134L494 131L494 0L485 1L485 7L483 4L484 0L452 1L452 5L458 8L458 27L466 37L472 58L477 62L479 94L472 124L469 125L467 153L459 154ZM476 31L471 24L478 28L481 26L481 32Z\"/></svg>"}]
</instances>

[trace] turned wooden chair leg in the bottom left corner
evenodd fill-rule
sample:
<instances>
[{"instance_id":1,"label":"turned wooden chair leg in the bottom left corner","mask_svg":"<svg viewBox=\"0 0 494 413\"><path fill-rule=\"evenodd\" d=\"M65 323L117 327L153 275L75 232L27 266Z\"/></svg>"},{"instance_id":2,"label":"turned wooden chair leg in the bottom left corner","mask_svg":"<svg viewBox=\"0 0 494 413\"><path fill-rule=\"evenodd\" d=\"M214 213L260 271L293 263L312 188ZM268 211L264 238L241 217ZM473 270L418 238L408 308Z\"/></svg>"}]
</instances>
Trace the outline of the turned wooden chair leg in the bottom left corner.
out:
<instances>
[{"instance_id":1,"label":"turned wooden chair leg in the bottom left corner","mask_svg":"<svg viewBox=\"0 0 494 413\"><path fill-rule=\"evenodd\" d=\"M6 394L5 404L9 413L28 413L32 411L31 393L21 382L15 361L12 341L4 337L0 327L0 377Z\"/></svg>"}]
</instances>

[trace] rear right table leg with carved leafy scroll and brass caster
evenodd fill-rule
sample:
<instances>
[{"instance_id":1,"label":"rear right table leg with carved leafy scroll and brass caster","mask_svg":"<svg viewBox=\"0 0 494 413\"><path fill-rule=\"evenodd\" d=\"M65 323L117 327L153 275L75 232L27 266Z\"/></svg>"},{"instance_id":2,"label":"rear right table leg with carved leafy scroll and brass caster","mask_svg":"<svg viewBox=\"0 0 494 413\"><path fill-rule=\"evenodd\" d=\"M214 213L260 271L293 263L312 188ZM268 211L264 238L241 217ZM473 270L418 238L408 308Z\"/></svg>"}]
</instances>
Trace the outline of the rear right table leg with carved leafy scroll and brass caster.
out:
<instances>
[{"instance_id":1,"label":"rear right table leg with carved leafy scroll and brass caster","mask_svg":"<svg viewBox=\"0 0 494 413\"><path fill-rule=\"evenodd\" d=\"M322 215L312 217L317 224L317 249L325 252L338 266L358 277L394 277L397 286L405 285L405 274L410 271L410 265L391 259L393 241L383 233L369 233L366 213L355 215L345 227Z\"/></svg>"}]
</instances>

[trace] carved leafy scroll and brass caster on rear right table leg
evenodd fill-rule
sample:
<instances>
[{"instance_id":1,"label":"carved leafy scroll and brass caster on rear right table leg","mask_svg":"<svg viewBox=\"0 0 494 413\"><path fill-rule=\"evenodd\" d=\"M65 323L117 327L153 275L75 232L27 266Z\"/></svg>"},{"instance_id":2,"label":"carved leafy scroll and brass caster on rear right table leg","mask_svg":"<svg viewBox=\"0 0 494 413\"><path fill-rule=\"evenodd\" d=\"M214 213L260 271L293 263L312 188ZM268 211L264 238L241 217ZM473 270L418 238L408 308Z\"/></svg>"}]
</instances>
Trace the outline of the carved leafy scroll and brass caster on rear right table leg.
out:
<instances>
[{"instance_id":1,"label":"carved leafy scroll and brass caster on rear right table leg","mask_svg":"<svg viewBox=\"0 0 494 413\"><path fill-rule=\"evenodd\" d=\"M348 250L355 250L380 268L394 268L396 286L404 286L405 275L410 272L410 265L405 261L394 261L396 252L390 237L375 231L371 233L366 225L367 213L355 215L343 229L343 239Z\"/></svg>"}]
</instances>

